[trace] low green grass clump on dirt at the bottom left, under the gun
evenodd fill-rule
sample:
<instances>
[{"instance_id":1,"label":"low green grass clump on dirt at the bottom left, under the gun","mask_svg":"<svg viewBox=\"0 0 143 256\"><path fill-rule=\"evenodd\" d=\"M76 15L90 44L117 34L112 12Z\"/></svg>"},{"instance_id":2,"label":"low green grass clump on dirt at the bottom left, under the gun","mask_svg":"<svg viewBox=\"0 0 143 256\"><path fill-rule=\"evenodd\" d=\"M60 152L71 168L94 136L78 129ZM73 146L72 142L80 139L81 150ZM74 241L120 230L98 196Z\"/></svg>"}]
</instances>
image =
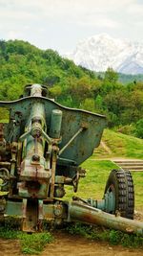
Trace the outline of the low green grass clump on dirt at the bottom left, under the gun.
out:
<instances>
[{"instance_id":1,"label":"low green grass clump on dirt at the bottom left, under the gun","mask_svg":"<svg viewBox=\"0 0 143 256\"><path fill-rule=\"evenodd\" d=\"M18 239L21 252L25 254L40 254L45 245L53 240L49 232L27 234L22 231L9 228L8 225L0 227L0 238Z\"/></svg>"}]
</instances>

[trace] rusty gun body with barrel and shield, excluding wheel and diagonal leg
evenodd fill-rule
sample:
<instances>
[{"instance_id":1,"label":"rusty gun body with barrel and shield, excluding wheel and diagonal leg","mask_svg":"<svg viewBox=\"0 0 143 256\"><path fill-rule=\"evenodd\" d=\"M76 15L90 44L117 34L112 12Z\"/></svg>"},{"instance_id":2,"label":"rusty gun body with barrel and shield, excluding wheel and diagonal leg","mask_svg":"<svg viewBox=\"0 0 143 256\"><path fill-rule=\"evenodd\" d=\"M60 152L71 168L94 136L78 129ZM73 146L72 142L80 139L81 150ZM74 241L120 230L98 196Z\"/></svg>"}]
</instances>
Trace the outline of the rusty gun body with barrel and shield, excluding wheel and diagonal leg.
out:
<instances>
[{"instance_id":1,"label":"rusty gun body with barrel and shield, excluding wheel and diagonal leg","mask_svg":"<svg viewBox=\"0 0 143 256\"><path fill-rule=\"evenodd\" d=\"M77 190L85 175L78 165L98 146L106 119L54 103L43 97L40 84L28 85L25 95L29 97L0 102L10 110L10 123L0 125L0 161L7 162L10 175L8 203L2 206L6 214L22 218L24 231L34 232L41 230L44 218L56 225L67 220L67 203L57 198L64 197L64 184Z\"/></svg>"}]
</instances>

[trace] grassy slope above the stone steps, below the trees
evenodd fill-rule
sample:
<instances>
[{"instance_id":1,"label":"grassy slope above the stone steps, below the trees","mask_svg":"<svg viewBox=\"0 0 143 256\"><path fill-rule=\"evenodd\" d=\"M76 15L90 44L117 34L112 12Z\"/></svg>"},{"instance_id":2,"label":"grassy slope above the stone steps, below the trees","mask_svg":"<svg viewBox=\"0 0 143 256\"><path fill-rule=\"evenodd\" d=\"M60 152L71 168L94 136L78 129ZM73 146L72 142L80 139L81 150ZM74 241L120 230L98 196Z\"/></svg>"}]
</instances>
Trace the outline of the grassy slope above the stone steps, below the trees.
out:
<instances>
[{"instance_id":1,"label":"grassy slope above the stone steps, below the trees","mask_svg":"<svg viewBox=\"0 0 143 256\"><path fill-rule=\"evenodd\" d=\"M94 151L96 157L127 157L143 159L143 140L133 136L105 129L103 142L110 148L112 154L107 153L100 146Z\"/></svg>"}]
</instances>

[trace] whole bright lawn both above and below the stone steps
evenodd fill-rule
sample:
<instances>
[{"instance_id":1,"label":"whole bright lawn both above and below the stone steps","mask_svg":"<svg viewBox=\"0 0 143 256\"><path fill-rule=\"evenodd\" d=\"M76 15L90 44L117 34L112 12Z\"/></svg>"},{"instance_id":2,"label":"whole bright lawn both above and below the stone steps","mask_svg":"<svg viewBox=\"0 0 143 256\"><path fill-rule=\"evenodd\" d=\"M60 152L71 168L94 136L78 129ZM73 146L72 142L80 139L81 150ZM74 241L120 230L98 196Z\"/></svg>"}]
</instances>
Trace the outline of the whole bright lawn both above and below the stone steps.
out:
<instances>
[{"instance_id":1,"label":"whole bright lawn both above and below the stone steps","mask_svg":"<svg viewBox=\"0 0 143 256\"><path fill-rule=\"evenodd\" d=\"M106 181L112 169L118 167L112 161L104 159L110 157L143 158L143 140L106 129L103 141L110 148L108 153L101 146L91 158L82 164L87 170L87 176L79 183L79 192L75 194L80 198L103 198ZM102 159L101 159L102 157ZM143 210L143 173L133 172L135 192L135 209ZM67 188L66 198L72 198L72 188Z\"/></svg>"}]
</instances>

